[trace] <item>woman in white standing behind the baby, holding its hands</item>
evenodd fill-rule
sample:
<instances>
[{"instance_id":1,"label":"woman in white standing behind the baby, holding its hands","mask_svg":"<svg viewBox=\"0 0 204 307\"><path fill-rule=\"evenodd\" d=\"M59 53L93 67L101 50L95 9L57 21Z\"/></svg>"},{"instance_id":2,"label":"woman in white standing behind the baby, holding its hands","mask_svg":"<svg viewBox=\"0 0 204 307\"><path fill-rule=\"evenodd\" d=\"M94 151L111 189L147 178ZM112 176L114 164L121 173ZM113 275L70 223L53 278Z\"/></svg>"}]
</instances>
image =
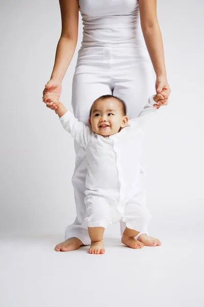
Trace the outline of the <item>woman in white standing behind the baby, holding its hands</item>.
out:
<instances>
[{"instance_id":1,"label":"woman in white standing behind the baby, holding its hands","mask_svg":"<svg viewBox=\"0 0 204 307\"><path fill-rule=\"evenodd\" d=\"M165 98L168 98L170 88L156 16L156 0L59 0L59 3L62 31L51 79L43 91L43 102L46 102L44 95L47 92L60 97L61 82L77 44L79 11L83 21L83 40L72 89L73 112L79 121L88 125L90 105L105 94L123 99L127 103L128 117L137 117L148 96L155 92L152 65L156 74L156 92L166 91ZM160 103L160 106L165 104L167 101ZM90 244L84 222L85 151L76 142L75 151L76 166L72 183L77 217L74 224L66 227L65 241L55 247L56 251L71 251ZM141 168L141 197L145 206L144 177ZM147 233L145 225L144 221L144 227L138 229L138 233ZM121 221L121 233L124 228ZM160 245L157 239L145 234L140 235L138 240L146 246Z\"/></svg>"}]
</instances>

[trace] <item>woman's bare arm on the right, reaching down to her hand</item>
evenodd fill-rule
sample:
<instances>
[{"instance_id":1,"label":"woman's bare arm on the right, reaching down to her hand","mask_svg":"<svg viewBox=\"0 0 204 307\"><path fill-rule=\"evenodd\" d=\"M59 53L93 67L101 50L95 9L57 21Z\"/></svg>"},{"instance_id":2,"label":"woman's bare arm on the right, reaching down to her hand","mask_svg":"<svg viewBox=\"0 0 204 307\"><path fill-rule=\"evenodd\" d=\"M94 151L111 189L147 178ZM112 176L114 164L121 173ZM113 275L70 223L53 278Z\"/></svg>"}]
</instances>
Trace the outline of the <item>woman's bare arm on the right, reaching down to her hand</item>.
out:
<instances>
[{"instance_id":1,"label":"woman's bare arm on the right, reaching down to her hand","mask_svg":"<svg viewBox=\"0 0 204 307\"><path fill-rule=\"evenodd\" d=\"M156 15L156 0L139 0L141 27L156 74L156 92L170 94L164 60L164 48ZM166 98L166 97L165 97Z\"/></svg>"}]
</instances>

